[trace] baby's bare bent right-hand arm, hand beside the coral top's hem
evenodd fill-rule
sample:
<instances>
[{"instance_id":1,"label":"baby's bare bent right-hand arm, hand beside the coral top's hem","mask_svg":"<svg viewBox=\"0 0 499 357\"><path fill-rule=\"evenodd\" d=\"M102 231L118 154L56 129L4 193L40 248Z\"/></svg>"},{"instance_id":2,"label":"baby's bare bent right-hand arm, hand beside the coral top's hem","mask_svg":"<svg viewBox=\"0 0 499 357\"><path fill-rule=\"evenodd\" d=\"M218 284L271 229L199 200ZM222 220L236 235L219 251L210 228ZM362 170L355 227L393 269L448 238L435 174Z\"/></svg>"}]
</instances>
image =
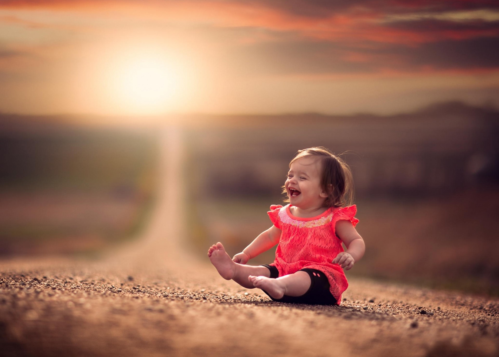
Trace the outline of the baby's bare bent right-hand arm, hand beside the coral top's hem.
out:
<instances>
[{"instance_id":1,"label":"baby's bare bent right-hand arm, hand beside the coral top's hem","mask_svg":"<svg viewBox=\"0 0 499 357\"><path fill-rule=\"evenodd\" d=\"M345 270L351 269L353 264L364 255L366 250L364 240L357 233L352 222L348 220L342 219L336 222L335 230L336 235L345 243L346 250L340 252L332 263L340 265Z\"/></svg>"}]
</instances>

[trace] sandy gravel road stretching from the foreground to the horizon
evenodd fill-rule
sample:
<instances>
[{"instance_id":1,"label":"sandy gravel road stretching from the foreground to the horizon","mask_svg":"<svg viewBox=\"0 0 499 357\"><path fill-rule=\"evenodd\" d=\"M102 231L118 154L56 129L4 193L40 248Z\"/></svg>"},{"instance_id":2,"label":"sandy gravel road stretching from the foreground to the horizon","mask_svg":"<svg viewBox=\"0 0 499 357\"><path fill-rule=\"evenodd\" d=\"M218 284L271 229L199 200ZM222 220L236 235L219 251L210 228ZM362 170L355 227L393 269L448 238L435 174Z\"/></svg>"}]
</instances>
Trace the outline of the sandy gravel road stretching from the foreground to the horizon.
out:
<instances>
[{"instance_id":1,"label":"sandy gravel road stretching from the foreground to the horizon","mask_svg":"<svg viewBox=\"0 0 499 357\"><path fill-rule=\"evenodd\" d=\"M340 306L290 305L223 280L182 244L181 148L166 131L140 239L0 261L1 356L499 356L498 299L351 279Z\"/></svg>"}]
</instances>

